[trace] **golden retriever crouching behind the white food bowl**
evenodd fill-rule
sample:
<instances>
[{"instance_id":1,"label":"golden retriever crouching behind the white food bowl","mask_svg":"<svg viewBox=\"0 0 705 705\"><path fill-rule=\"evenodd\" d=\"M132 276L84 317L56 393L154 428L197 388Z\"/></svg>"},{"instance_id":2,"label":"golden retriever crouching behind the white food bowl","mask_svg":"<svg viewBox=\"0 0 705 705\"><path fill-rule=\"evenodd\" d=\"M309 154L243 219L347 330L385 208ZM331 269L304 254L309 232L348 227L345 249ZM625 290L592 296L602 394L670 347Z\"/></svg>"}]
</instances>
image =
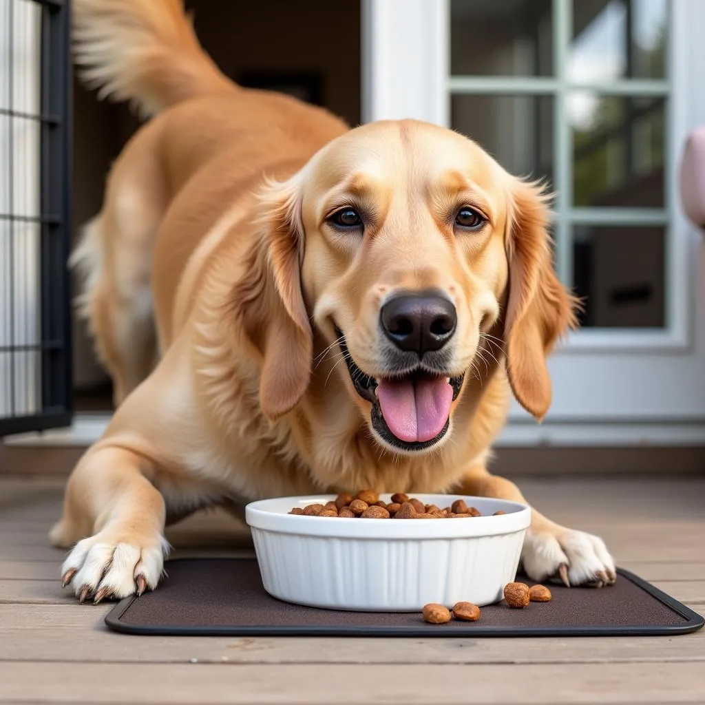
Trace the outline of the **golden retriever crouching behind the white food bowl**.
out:
<instances>
[{"instance_id":1,"label":"golden retriever crouching behind the white food bowl","mask_svg":"<svg viewBox=\"0 0 705 705\"><path fill-rule=\"evenodd\" d=\"M360 490L523 501L486 470L511 393L541 419L575 301L546 195L466 137L349 129L244 90L178 0L76 0L77 61L151 119L73 256L117 410L51 530L81 601L157 587L166 522ZM603 541L538 512L535 580L615 580Z\"/></svg>"}]
</instances>

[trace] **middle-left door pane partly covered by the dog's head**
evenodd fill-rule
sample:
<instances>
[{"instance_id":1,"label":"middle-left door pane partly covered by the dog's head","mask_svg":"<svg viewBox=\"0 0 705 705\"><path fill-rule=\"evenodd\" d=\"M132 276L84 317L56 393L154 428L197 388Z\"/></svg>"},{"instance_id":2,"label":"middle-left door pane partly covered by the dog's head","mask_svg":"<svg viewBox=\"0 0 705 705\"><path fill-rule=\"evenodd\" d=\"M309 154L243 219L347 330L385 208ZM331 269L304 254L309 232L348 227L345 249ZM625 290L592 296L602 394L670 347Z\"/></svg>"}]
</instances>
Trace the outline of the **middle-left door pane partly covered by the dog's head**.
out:
<instances>
[{"instance_id":1,"label":"middle-left door pane partly covered by the dog's head","mask_svg":"<svg viewBox=\"0 0 705 705\"><path fill-rule=\"evenodd\" d=\"M553 98L455 95L451 125L517 176L553 173Z\"/></svg>"}]
</instances>

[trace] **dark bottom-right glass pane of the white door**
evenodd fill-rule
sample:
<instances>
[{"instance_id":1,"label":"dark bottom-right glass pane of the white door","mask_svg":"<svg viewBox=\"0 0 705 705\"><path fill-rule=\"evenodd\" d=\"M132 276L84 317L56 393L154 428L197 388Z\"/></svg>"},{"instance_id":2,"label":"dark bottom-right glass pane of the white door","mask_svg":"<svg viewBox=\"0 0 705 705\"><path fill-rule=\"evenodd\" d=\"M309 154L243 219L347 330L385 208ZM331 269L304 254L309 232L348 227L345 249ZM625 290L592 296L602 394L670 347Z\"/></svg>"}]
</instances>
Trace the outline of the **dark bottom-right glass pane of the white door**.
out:
<instances>
[{"instance_id":1,"label":"dark bottom-right glass pane of the white door","mask_svg":"<svg viewBox=\"0 0 705 705\"><path fill-rule=\"evenodd\" d=\"M575 226L573 286L582 326L663 328L663 228Z\"/></svg>"}]
</instances>

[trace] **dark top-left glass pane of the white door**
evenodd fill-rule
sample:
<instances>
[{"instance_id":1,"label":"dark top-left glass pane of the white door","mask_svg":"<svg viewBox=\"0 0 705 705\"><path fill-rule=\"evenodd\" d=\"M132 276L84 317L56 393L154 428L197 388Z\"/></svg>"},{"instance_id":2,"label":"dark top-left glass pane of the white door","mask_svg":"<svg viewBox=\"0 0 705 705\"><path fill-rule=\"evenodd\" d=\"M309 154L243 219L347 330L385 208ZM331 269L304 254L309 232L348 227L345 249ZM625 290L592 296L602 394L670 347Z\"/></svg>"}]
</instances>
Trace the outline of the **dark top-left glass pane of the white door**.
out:
<instances>
[{"instance_id":1,"label":"dark top-left glass pane of the white door","mask_svg":"<svg viewBox=\"0 0 705 705\"><path fill-rule=\"evenodd\" d=\"M551 0L452 0L450 73L550 75L552 32Z\"/></svg>"}]
</instances>

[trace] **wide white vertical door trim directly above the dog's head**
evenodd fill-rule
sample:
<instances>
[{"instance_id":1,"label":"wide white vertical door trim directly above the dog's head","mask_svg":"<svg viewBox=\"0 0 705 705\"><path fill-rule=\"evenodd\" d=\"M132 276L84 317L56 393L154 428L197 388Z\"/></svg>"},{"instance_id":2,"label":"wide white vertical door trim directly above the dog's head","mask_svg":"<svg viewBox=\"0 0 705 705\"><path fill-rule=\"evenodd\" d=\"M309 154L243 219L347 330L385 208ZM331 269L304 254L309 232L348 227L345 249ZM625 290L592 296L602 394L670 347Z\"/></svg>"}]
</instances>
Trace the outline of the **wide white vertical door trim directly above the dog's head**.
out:
<instances>
[{"instance_id":1,"label":"wide white vertical door trim directly above the dog's head","mask_svg":"<svg viewBox=\"0 0 705 705\"><path fill-rule=\"evenodd\" d=\"M448 2L362 0L362 119L448 125Z\"/></svg>"}]
</instances>

